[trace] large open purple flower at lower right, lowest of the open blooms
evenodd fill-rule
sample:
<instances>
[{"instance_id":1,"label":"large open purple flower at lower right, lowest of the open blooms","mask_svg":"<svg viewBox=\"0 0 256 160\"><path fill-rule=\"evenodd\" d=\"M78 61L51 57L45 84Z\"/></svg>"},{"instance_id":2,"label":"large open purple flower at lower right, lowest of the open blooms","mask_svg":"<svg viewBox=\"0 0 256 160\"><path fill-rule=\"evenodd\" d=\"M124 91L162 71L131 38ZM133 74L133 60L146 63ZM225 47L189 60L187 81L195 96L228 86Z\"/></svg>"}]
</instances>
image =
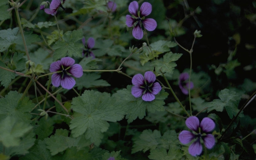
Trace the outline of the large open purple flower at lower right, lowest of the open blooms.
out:
<instances>
[{"instance_id":1,"label":"large open purple flower at lower right, lowest of the open blooms","mask_svg":"<svg viewBox=\"0 0 256 160\"><path fill-rule=\"evenodd\" d=\"M213 148L215 139L212 134L209 134L215 128L215 123L212 119L205 117L199 124L199 119L196 116L191 116L186 119L186 126L196 133L183 130L179 134L179 140L182 144L187 144L193 139L196 139L188 148L189 154L196 156L202 153L203 147L200 143L200 137L203 139L206 148Z\"/></svg>"}]
</instances>

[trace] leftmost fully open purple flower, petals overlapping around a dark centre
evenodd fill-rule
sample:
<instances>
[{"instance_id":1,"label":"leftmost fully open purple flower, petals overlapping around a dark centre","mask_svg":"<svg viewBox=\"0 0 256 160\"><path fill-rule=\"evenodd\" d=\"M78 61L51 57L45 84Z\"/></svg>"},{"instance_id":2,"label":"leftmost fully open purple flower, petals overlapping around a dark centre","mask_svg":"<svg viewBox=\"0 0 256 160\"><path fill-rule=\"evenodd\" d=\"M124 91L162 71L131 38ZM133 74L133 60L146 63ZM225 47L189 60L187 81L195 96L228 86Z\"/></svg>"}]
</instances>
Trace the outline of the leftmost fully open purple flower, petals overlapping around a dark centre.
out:
<instances>
[{"instance_id":1,"label":"leftmost fully open purple flower, petals overlapping around a dark centre","mask_svg":"<svg viewBox=\"0 0 256 160\"><path fill-rule=\"evenodd\" d=\"M79 64L74 64L75 60L70 57L61 58L60 61L52 62L50 71L52 74L52 85L62 86L65 89L71 89L75 85L75 80L70 75L80 78L83 75L83 68Z\"/></svg>"}]
</instances>

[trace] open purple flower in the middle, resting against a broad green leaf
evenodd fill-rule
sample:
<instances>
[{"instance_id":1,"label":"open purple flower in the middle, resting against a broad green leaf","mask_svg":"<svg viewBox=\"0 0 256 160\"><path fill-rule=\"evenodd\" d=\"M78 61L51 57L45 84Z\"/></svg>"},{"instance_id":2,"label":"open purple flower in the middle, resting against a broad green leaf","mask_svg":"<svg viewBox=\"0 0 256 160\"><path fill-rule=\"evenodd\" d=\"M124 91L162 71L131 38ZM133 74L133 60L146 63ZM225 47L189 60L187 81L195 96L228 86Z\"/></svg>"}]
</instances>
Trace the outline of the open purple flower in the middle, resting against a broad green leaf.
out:
<instances>
[{"instance_id":1,"label":"open purple flower in the middle, resting against a broad green leaf","mask_svg":"<svg viewBox=\"0 0 256 160\"><path fill-rule=\"evenodd\" d=\"M144 78L145 77L145 78ZM155 99L155 95L158 94L162 87L158 82L155 82L155 74L151 71L147 71L144 74L136 74L132 78L132 95L134 97L140 97L144 101L152 101Z\"/></svg>"}]
</instances>

